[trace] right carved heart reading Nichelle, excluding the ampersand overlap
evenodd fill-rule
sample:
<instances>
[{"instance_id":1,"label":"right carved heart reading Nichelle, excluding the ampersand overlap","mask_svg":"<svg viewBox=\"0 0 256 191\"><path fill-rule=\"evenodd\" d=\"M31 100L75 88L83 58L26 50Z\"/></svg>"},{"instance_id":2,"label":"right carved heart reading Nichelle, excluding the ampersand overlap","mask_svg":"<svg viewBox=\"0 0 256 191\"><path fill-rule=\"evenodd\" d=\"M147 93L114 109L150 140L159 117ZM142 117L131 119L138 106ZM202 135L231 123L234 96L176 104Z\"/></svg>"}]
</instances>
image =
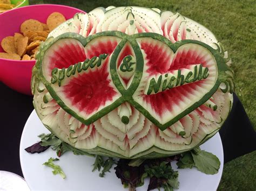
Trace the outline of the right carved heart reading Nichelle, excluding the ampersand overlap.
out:
<instances>
[{"instance_id":1,"label":"right carved heart reading Nichelle, excluding the ampersand overlap","mask_svg":"<svg viewBox=\"0 0 256 191\"><path fill-rule=\"evenodd\" d=\"M144 115L164 130L210 99L220 85L218 64L225 62L220 63L222 60L214 56L213 49L199 41L171 44L156 34L137 36L145 69L131 104L140 112L145 110ZM150 83L152 79L154 83ZM154 84L159 85L159 91L147 92L150 88L154 90ZM170 88L168 84L171 84Z\"/></svg>"}]
</instances>

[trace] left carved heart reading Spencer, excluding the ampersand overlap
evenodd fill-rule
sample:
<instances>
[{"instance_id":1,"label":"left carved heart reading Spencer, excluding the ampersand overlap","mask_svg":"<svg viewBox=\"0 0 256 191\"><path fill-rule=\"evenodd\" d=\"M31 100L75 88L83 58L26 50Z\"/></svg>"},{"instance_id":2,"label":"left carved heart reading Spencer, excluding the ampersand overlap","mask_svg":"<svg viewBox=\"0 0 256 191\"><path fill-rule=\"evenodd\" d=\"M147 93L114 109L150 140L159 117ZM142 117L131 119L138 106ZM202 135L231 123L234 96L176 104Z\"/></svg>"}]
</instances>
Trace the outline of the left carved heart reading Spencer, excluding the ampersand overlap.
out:
<instances>
[{"instance_id":1,"label":"left carved heart reading Spencer, excluding the ampersand overlap","mask_svg":"<svg viewBox=\"0 0 256 191\"><path fill-rule=\"evenodd\" d=\"M85 124L123 103L109 68L111 55L121 40L100 34L85 39L66 33L44 45L40 52L43 56L38 61L49 93L65 111Z\"/></svg>"}]
</instances>

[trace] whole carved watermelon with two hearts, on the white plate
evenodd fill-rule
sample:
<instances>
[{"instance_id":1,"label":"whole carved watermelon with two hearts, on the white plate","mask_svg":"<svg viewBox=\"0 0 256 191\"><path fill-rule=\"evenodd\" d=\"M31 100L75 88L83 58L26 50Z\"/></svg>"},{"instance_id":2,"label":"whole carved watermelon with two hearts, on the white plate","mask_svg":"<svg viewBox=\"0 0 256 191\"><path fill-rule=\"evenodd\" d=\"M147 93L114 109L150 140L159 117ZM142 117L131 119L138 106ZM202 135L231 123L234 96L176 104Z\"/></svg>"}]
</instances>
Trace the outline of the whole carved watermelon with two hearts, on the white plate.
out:
<instances>
[{"instance_id":1,"label":"whole carved watermelon with two hearts, on the white plate","mask_svg":"<svg viewBox=\"0 0 256 191\"><path fill-rule=\"evenodd\" d=\"M233 72L204 26L158 9L97 8L53 30L31 81L42 123L80 152L159 158L212 137Z\"/></svg>"}]
</instances>

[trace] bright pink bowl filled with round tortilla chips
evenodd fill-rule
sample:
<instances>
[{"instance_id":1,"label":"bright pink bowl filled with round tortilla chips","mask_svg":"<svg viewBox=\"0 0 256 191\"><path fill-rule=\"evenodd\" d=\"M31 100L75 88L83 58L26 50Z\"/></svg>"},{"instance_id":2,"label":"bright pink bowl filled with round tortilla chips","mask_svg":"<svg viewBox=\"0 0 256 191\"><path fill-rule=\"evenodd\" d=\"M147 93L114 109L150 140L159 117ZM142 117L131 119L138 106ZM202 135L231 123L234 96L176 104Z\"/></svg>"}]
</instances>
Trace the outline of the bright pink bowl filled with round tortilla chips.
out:
<instances>
[{"instance_id":1,"label":"bright pink bowl filled with round tortilla chips","mask_svg":"<svg viewBox=\"0 0 256 191\"><path fill-rule=\"evenodd\" d=\"M42 4L0 14L0 81L19 93L31 95L31 72L39 45L51 30L77 12L84 11Z\"/></svg>"}]
</instances>

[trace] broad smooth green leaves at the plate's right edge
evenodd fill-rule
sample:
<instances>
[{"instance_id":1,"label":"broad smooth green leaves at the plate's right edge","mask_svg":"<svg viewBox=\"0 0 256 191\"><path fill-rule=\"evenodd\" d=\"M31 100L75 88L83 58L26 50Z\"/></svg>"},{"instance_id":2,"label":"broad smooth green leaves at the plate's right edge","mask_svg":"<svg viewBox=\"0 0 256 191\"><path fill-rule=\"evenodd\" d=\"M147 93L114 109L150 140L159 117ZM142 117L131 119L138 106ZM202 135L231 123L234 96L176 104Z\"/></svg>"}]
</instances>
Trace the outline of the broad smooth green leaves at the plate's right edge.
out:
<instances>
[{"instance_id":1,"label":"broad smooth green leaves at the plate's right edge","mask_svg":"<svg viewBox=\"0 0 256 191\"><path fill-rule=\"evenodd\" d=\"M181 159L177 162L179 168L197 167L198 171L205 174L216 174L220 167L218 157L210 152L200 150L199 147L181 154Z\"/></svg>"}]
</instances>

